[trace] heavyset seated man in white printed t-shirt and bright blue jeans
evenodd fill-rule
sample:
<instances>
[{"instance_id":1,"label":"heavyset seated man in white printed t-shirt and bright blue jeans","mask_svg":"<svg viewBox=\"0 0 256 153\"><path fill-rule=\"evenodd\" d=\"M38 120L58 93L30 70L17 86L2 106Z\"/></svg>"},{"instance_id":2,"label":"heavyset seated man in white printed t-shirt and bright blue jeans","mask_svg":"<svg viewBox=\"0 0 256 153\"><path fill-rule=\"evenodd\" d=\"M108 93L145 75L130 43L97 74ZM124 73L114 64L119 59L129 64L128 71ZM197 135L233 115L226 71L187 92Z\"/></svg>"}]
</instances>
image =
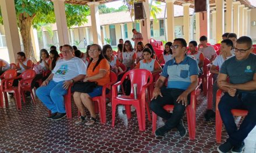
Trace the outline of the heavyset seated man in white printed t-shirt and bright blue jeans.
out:
<instances>
[{"instance_id":1,"label":"heavyset seated man in white printed t-shirt and bright blue jeans","mask_svg":"<svg viewBox=\"0 0 256 153\"><path fill-rule=\"evenodd\" d=\"M63 59L58 60L52 74L36 90L38 99L51 110L52 115L47 119L58 120L66 116L64 95L69 86L86 76L86 64L73 56L73 48L63 45Z\"/></svg>"}]
</instances>

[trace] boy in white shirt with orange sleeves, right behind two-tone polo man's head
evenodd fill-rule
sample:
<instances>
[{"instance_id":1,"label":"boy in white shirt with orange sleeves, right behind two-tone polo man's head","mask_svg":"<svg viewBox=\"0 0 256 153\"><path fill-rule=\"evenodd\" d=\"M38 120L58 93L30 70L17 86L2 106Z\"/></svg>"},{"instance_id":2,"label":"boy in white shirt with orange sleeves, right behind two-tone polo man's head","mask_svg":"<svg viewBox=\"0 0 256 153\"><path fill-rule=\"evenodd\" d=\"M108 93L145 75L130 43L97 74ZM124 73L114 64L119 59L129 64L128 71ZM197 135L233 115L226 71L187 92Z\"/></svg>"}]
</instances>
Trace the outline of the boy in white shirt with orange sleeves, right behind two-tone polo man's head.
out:
<instances>
[{"instance_id":1,"label":"boy in white shirt with orange sleeves, right behind two-tone polo man's head","mask_svg":"<svg viewBox=\"0 0 256 153\"><path fill-rule=\"evenodd\" d=\"M193 57L193 59L197 61L197 64L200 70L199 74L202 74L202 66L204 65L204 54L202 52L198 52L196 48L197 48L196 41L189 42L190 53L188 53L188 55Z\"/></svg>"}]
</instances>

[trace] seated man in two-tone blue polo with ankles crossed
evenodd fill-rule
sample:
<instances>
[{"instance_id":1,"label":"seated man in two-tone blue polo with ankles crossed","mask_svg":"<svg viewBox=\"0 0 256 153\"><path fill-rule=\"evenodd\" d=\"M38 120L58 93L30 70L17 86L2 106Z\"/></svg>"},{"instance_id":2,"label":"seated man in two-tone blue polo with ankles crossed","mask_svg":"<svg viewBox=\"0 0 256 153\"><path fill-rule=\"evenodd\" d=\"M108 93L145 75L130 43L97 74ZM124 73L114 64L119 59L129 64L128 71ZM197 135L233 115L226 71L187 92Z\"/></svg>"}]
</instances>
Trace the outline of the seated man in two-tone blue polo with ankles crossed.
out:
<instances>
[{"instance_id":1,"label":"seated man in two-tone blue polo with ankles crossed","mask_svg":"<svg viewBox=\"0 0 256 153\"><path fill-rule=\"evenodd\" d=\"M155 83L150 109L166 123L155 131L156 136L164 136L170 129L177 128L180 136L186 135L182 116L186 106L190 103L190 93L195 90L198 83L197 61L186 56L187 43L177 38L172 44L173 59L163 66L163 71ZM168 86L163 86L168 78ZM163 109L164 105L174 105L173 113Z\"/></svg>"}]
</instances>

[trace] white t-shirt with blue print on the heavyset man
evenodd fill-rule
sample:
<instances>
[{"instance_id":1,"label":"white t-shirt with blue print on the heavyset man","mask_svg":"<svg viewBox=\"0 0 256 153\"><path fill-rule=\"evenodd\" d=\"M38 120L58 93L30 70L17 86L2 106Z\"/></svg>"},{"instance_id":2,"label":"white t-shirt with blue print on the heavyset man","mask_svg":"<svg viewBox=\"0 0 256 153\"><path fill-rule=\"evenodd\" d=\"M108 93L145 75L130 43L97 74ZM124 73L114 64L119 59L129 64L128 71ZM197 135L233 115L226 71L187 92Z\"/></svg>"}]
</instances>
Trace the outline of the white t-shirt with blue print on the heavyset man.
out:
<instances>
[{"instance_id":1,"label":"white t-shirt with blue print on the heavyset man","mask_svg":"<svg viewBox=\"0 0 256 153\"><path fill-rule=\"evenodd\" d=\"M80 74L86 75L86 69L84 61L78 57L73 57L70 60L60 59L57 61L54 70L52 70L52 74L54 74L52 80L61 82L70 80Z\"/></svg>"}]
</instances>

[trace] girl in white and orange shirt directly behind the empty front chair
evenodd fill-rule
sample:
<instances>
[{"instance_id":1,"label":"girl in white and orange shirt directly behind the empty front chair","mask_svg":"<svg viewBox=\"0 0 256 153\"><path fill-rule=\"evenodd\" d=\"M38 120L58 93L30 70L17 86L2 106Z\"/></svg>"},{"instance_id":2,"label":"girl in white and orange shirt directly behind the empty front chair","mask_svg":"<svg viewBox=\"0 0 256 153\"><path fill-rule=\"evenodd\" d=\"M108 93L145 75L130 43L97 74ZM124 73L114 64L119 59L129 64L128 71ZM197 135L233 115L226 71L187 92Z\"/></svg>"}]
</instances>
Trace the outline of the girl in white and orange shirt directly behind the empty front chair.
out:
<instances>
[{"instance_id":1,"label":"girl in white and orange shirt directly behind the empty front chair","mask_svg":"<svg viewBox=\"0 0 256 153\"><path fill-rule=\"evenodd\" d=\"M146 69L146 70L150 71L152 74L161 72L162 71L161 66L159 65L157 60L151 58L151 55L152 55L151 49L145 48L143 50L144 60L141 60L136 65L136 67L134 67L134 69L136 69L136 68Z\"/></svg>"}]
</instances>

